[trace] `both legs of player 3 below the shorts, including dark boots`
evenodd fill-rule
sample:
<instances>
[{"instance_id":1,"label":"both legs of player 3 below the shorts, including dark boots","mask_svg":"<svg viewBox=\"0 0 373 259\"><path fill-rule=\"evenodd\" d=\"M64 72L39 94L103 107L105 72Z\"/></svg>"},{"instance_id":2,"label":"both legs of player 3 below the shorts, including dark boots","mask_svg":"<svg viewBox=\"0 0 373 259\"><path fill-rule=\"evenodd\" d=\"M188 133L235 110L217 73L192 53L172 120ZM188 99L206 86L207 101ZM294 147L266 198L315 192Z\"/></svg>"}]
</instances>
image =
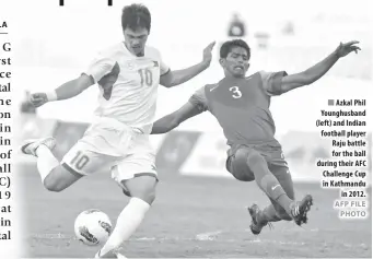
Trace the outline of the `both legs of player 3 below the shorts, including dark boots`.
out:
<instances>
[{"instance_id":1,"label":"both legs of player 3 below the shorts, including dark boots","mask_svg":"<svg viewBox=\"0 0 373 259\"><path fill-rule=\"evenodd\" d=\"M281 152L278 156L281 157ZM269 222L294 220L296 224L302 224L303 220L300 219L304 219L304 216L302 217L302 213L299 214L299 212L304 210L306 213L310 210L312 198L310 197L311 204L305 208L301 204L306 204L306 201L301 203L294 201L293 181L285 163L268 164L260 153L246 146L238 149L233 160L229 162L228 169L236 179L243 181L256 180L259 188L272 202L263 211L256 204L248 208L254 234L259 234L261 228ZM305 200L308 200L308 198Z\"/></svg>"}]
</instances>

